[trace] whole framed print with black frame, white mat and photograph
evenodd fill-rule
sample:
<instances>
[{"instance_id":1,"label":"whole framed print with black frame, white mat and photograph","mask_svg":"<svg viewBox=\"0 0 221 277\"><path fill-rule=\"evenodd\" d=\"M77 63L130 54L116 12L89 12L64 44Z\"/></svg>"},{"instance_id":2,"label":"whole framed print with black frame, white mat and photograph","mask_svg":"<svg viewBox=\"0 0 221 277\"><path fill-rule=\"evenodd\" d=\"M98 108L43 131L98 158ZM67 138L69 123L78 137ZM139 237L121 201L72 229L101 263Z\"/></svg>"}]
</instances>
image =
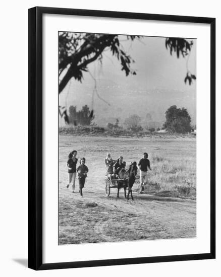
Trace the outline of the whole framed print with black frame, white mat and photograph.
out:
<instances>
[{"instance_id":1,"label":"whole framed print with black frame, white mat and photograph","mask_svg":"<svg viewBox=\"0 0 221 277\"><path fill-rule=\"evenodd\" d=\"M215 19L29 9L29 267L215 258Z\"/></svg>"}]
</instances>

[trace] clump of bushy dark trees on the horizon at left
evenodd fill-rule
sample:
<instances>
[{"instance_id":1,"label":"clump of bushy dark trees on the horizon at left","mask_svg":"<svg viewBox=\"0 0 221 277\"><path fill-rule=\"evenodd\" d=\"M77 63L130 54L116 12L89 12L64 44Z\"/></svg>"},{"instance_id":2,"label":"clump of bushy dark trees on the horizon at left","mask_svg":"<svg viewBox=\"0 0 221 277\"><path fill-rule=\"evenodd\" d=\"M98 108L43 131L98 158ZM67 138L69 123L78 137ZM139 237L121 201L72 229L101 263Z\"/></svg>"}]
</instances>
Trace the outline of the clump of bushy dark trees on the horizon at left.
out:
<instances>
[{"instance_id":1,"label":"clump of bushy dark trees on the horizon at left","mask_svg":"<svg viewBox=\"0 0 221 277\"><path fill-rule=\"evenodd\" d=\"M77 111L76 106L69 107L69 123L76 125L90 125L94 115L87 105Z\"/></svg>"}]
</instances>

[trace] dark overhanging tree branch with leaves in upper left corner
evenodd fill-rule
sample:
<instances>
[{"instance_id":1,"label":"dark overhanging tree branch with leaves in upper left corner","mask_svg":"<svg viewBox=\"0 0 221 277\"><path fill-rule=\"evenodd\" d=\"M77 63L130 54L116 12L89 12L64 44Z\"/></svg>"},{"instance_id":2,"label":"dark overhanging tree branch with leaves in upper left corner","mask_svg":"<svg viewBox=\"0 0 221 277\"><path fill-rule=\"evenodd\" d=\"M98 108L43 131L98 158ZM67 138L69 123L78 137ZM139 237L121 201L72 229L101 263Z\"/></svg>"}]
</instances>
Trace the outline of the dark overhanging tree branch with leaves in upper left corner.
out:
<instances>
[{"instance_id":1,"label":"dark overhanging tree branch with leaves in upper left corner","mask_svg":"<svg viewBox=\"0 0 221 277\"><path fill-rule=\"evenodd\" d=\"M139 36L137 36L139 38ZM134 40L136 36L127 36L128 39ZM87 71L87 65L97 58L102 59L102 52L105 48L111 50L113 56L116 56L122 64L122 71L126 76L136 74L130 68L131 57L122 49L118 35L101 35L101 34L77 34L62 33L59 36L59 70L64 71L68 65L66 74L59 84L59 93L61 93L69 80L74 77L80 81L83 78L83 71ZM61 76L61 74L60 74Z\"/></svg>"}]
</instances>

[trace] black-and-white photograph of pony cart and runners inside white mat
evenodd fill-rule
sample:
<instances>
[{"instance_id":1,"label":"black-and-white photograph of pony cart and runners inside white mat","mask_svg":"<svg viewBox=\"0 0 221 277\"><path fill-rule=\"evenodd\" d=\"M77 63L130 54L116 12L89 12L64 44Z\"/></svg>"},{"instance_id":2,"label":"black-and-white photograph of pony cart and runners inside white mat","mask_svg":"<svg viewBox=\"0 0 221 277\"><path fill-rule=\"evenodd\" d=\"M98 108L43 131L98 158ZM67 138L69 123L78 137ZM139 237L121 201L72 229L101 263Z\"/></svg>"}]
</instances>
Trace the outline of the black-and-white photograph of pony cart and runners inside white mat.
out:
<instances>
[{"instance_id":1,"label":"black-and-white photograph of pony cart and runners inside white mat","mask_svg":"<svg viewBox=\"0 0 221 277\"><path fill-rule=\"evenodd\" d=\"M58 41L59 245L196 238L197 39Z\"/></svg>"}]
</instances>

